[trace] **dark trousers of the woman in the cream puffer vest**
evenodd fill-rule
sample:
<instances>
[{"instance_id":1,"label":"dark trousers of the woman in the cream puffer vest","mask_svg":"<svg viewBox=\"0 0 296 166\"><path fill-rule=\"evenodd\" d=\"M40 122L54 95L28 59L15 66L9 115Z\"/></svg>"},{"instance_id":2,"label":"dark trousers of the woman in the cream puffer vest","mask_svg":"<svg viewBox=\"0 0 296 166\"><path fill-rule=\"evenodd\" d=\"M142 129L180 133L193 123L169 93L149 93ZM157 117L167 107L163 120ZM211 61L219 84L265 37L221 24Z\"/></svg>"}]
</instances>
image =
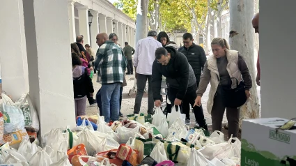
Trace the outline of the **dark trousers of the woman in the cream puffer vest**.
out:
<instances>
[{"instance_id":1,"label":"dark trousers of the woman in the cream puffer vest","mask_svg":"<svg viewBox=\"0 0 296 166\"><path fill-rule=\"evenodd\" d=\"M212 130L222 130L222 120L226 109L226 117L228 121L228 137L237 137L240 121L240 109L225 106L224 92L221 86L218 86L212 106Z\"/></svg>"}]
</instances>

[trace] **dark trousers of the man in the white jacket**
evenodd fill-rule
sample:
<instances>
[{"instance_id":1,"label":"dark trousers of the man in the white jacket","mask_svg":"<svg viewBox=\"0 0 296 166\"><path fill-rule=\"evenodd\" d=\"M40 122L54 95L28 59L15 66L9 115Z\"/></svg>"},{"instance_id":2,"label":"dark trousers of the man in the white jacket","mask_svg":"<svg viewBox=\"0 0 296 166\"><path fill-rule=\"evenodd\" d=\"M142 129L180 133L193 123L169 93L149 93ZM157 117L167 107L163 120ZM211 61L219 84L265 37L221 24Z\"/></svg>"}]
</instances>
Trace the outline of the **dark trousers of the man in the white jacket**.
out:
<instances>
[{"instance_id":1,"label":"dark trousers of the man in the white jacket","mask_svg":"<svg viewBox=\"0 0 296 166\"><path fill-rule=\"evenodd\" d=\"M148 80L148 114L153 114L154 100L152 93L152 75L137 74L137 96L134 102L134 114L139 114L141 110L142 98Z\"/></svg>"}]
</instances>

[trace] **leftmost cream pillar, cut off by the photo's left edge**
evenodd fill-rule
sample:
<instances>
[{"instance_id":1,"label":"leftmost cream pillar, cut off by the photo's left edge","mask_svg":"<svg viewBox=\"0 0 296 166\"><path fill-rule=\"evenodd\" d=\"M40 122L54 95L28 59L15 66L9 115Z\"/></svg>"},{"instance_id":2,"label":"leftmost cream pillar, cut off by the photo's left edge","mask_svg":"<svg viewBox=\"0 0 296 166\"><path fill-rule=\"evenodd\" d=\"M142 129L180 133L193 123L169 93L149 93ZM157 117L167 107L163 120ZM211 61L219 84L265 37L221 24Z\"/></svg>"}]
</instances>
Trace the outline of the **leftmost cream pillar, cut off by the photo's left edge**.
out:
<instances>
[{"instance_id":1,"label":"leftmost cream pillar, cut off by the photo's left edge","mask_svg":"<svg viewBox=\"0 0 296 166\"><path fill-rule=\"evenodd\" d=\"M13 100L29 92L22 3L4 0L0 5L2 90L12 95Z\"/></svg>"}]
</instances>

